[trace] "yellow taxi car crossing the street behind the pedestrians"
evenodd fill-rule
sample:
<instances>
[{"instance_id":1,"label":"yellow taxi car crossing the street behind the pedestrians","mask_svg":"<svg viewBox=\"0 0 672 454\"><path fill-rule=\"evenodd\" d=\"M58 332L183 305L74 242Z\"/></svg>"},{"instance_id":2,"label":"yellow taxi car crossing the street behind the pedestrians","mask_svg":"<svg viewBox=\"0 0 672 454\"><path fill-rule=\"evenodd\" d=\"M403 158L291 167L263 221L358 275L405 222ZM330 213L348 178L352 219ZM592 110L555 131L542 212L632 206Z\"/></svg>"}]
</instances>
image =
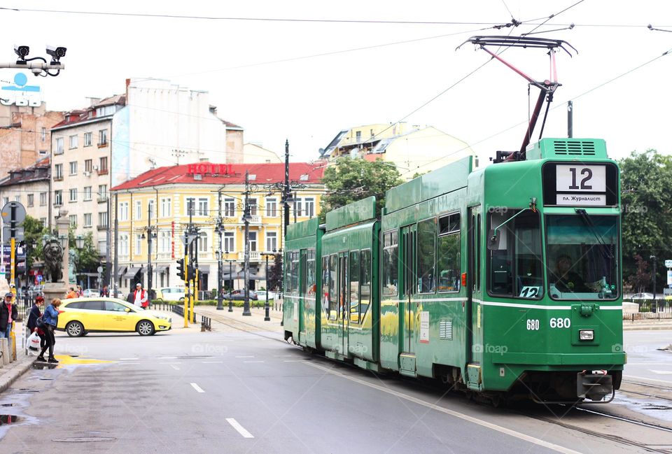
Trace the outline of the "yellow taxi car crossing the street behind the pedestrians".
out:
<instances>
[{"instance_id":1,"label":"yellow taxi car crossing the street behind the pedestrians","mask_svg":"<svg viewBox=\"0 0 672 454\"><path fill-rule=\"evenodd\" d=\"M85 336L90 332L137 332L152 336L172 327L167 315L139 308L123 299L93 297L62 301L56 329L69 336Z\"/></svg>"}]
</instances>

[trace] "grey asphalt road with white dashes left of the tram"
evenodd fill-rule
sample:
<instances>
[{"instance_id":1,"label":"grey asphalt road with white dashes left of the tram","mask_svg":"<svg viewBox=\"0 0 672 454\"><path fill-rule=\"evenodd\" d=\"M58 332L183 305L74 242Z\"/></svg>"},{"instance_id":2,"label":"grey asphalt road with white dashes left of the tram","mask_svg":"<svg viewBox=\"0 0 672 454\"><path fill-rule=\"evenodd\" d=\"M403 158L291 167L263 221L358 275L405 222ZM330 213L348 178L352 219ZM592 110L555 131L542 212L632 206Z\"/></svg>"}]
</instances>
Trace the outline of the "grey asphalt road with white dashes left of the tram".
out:
<instances>
[{"instance_id":1,"label":"grey asphalt road with white dashes left of the tram","mask_svg":"<svg viewBox=\"0 0 672 454\"><path fill-rule=\"evenodd\" d=\"M0 395L0 413L20 417L0 426L3 454L639 452L267 332L59 335L58 353L73 356Z\"/></svg>"}]
</instances>

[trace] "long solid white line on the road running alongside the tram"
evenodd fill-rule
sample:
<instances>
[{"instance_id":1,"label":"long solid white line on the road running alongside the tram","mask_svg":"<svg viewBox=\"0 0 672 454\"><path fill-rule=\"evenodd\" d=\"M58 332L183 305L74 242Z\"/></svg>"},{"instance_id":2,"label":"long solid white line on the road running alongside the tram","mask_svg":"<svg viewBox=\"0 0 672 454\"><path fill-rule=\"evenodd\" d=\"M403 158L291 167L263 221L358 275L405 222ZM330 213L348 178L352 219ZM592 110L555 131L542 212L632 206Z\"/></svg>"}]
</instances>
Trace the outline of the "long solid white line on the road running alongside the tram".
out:
<instances>
[{"instance_id":1,"label":"long solid white line on the road running alongside the tram","mask_svg":"<svg viewBox=\"0 0 672 454\"><path fill-rule=\"evenodd\" d=\"M449 409L444 409L442 406L438 406L435 404L430 404L429 402L425 402L422 399L418 399L417 397L412 397L409 395L406 395L402 392L394 391L388 388L385 388L384 386L381 385L376 385L375 383L369 383L367 381L361 380L360 378L356 378L353 376L346 376L345 374L342 374L339 371L335 371L332 369L329 369L328 367L321 366L319 364L314 364L311 362L306 362L310 367L315 367L316 369L321 369L325 371L328 374L332 374L335 376L339 376L341 378L345 378L346 380L349 381L354 381L355 383L359 383L360 385L365 385L368 386L369 388L374 388L376 390L386 392L387 394L399 397L400 399L405 399L409 402L414 402L415 404L419 404L421 406L425 406L428 409L433 409L436 411L440 411L441 413L446 413L447 415L450 416L455 416L456 418L460 418L462 420L468 421L470 423L474 423L483 427L487 427L488 429L491 430L496 430L497 432L501 432L503 434L510 435L511 437L516 437L517 439L521 439L524 441L528 441L529 443L533 443L538 446L543 446L545 448L552 449L553 451L557 451L559 453L564 453L564 454L579 454L578 451L574 451L570 448L565 448L564 446L560 446L554 443L549 443L548 441L543 441L535 437L531 437L530 435L523 434L521 432L517 432L515 430L508 429L507 427L503 427L500 425L496 425L493 423L488 423L487 421L484 420L479 420L478 418L474 418L473 416L468 416L465 415L464 413L460 413L458 411L454 410L449 410Z\"/></svg>"}]
</instances>

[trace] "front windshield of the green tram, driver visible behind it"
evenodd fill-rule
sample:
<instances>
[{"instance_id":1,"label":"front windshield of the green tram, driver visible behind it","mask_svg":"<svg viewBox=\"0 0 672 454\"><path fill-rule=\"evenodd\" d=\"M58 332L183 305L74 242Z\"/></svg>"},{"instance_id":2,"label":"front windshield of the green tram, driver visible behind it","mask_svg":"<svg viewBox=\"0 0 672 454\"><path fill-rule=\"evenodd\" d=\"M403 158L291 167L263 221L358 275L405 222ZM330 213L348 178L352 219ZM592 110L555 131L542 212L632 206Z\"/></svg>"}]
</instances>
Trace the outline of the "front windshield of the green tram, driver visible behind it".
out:
<instances>
[{"instance_id":1,"label":"front windshield of the green tram, driver visible behind it","mask_svg":"<svg viewBox=\"0 0 672 454\"><path fill-rule=\"evenodd\" d=\"M547 272L553 299L618 296L618 217L548 215Z\"/></svg>"}]
</instances>

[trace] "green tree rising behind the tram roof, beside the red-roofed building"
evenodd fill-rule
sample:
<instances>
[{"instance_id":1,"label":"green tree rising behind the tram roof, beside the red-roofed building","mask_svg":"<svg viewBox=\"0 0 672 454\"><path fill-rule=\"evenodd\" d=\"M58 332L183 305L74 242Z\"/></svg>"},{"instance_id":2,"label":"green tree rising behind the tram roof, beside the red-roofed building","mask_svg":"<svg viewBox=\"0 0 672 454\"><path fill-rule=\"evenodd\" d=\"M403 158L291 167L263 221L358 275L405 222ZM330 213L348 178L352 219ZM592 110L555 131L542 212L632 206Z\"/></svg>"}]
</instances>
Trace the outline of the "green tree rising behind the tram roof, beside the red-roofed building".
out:
<instances>
[{"instance_id":1,"label":"green tree rising behind the tram roof, beside the red-roofed building","mask_svg":"<svg viewBox=\"0 0 672 454\"><path fill-rule=\"evenodd\" d=\"M320 201L320 222L324 222L328 211L372 195L376 196L376 215L379 216L385 205L385 192L403 180L389 162L344 157L325 169L322 183L327 194Z\"/></svg>"}]
</instances>

